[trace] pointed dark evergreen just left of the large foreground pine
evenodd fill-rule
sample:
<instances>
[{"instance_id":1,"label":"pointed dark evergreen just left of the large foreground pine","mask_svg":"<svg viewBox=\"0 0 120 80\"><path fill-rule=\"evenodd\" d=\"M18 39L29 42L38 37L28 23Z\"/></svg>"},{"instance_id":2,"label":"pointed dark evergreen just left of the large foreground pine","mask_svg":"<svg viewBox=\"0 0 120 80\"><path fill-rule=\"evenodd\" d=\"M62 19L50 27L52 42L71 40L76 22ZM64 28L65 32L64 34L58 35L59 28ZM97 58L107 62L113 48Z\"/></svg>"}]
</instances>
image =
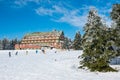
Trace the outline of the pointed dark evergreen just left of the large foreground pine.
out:
<instances>
[{"instance_id":1,"label":"pointed dark evergreen just left of the large foreground pine","mask_svg":"<svg viewBox=\"0 0 120 80\"><path fill-rule=\"evenodd\" d=\"M81 34L78 31L75 35L75 39L73 41L73 49L75 50L81 50L82 49L82 45L81 45Z\"/></svg>"}]
</instances>

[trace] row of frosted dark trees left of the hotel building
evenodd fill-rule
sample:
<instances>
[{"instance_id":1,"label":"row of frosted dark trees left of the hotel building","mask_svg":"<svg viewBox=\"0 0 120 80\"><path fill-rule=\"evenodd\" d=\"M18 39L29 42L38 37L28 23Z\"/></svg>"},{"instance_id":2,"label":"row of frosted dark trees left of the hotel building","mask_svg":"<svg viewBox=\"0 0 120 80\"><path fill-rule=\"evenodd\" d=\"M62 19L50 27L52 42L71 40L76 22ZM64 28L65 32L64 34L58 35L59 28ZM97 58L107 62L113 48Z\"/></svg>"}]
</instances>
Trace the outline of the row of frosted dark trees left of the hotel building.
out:
<instances>
[{"instance_id":1,"label":"row of frosted dark trees left of the hotel building","mask_svg":"<svg viewBox=\"0 0 120 80\"><path fill-rule=\"evenodd\" d=\"M4 38L0 40L0 50L14 50L15 44L19 44L19 43L20 41L17 38L12 40Z\"/></svg>"}]
</instances>

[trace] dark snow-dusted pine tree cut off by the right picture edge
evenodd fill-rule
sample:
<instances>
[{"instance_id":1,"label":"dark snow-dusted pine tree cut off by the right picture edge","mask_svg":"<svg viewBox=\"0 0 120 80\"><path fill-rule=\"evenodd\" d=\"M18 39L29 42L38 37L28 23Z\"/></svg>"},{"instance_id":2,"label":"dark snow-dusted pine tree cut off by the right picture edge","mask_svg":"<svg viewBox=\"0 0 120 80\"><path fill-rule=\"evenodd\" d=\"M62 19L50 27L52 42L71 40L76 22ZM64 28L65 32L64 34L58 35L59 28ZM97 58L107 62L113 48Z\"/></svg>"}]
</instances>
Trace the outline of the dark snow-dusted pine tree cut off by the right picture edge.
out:
<instances>
[{"instance_id":1,"label":"dark snow-dusted pine tree cut off by the right picture edge","mask_svg":"<svg viewBox=\"0 0 120 80\"><path fill-rule=\"evenodd\" d=\"M114 4L111 12L111 18L114 21L113 29L115 46L118 48L117 53L120 55L120 4Z\"/></svg>"}]
</instances>

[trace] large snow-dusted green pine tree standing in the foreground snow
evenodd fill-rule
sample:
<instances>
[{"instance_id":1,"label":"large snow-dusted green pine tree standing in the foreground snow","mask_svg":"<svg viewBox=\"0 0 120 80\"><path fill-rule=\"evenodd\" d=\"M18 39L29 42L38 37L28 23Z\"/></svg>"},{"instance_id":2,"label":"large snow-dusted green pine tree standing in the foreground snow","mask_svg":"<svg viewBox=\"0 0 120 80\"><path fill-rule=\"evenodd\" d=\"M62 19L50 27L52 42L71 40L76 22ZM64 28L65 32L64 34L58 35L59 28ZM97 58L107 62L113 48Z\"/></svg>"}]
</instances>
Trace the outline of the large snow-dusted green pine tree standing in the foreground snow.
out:
<instances>
[{"instance_id":1,"label":"large snow-dusted green pine tree standing in the foreground snow","mask_svg":"<svg viewBox=\"0 0 120 80\"><path fill-rule=\"evenodd\" d=\"M89 11L84 31L83 60L80 62L82 67L87 67L91 71L115 71L109 66L106 27L95 9Z\"/></svg>"}]
</instances>

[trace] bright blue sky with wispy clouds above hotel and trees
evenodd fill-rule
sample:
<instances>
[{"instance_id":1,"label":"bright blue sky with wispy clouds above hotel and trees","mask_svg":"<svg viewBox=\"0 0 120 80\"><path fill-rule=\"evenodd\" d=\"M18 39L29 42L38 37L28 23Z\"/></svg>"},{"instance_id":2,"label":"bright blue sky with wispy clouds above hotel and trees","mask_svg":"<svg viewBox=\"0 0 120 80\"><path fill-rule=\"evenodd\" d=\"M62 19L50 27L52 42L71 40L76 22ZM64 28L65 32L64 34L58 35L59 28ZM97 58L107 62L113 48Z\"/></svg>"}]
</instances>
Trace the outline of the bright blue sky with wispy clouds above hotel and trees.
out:
<instances>
[{"instance_id":1,"label":"bright blue sky with wispy clouds above hotel and trees","mask_svg":"<svg viewBox=\"0 0 120 80\"><path fill-rule=\"evenodd\" d=\"M73 39L83 34L90 8L111 25L112 5L120 0L0 0L0 39L21 39L26 33L63 30Z\"/></svg>"}]
</instances>

